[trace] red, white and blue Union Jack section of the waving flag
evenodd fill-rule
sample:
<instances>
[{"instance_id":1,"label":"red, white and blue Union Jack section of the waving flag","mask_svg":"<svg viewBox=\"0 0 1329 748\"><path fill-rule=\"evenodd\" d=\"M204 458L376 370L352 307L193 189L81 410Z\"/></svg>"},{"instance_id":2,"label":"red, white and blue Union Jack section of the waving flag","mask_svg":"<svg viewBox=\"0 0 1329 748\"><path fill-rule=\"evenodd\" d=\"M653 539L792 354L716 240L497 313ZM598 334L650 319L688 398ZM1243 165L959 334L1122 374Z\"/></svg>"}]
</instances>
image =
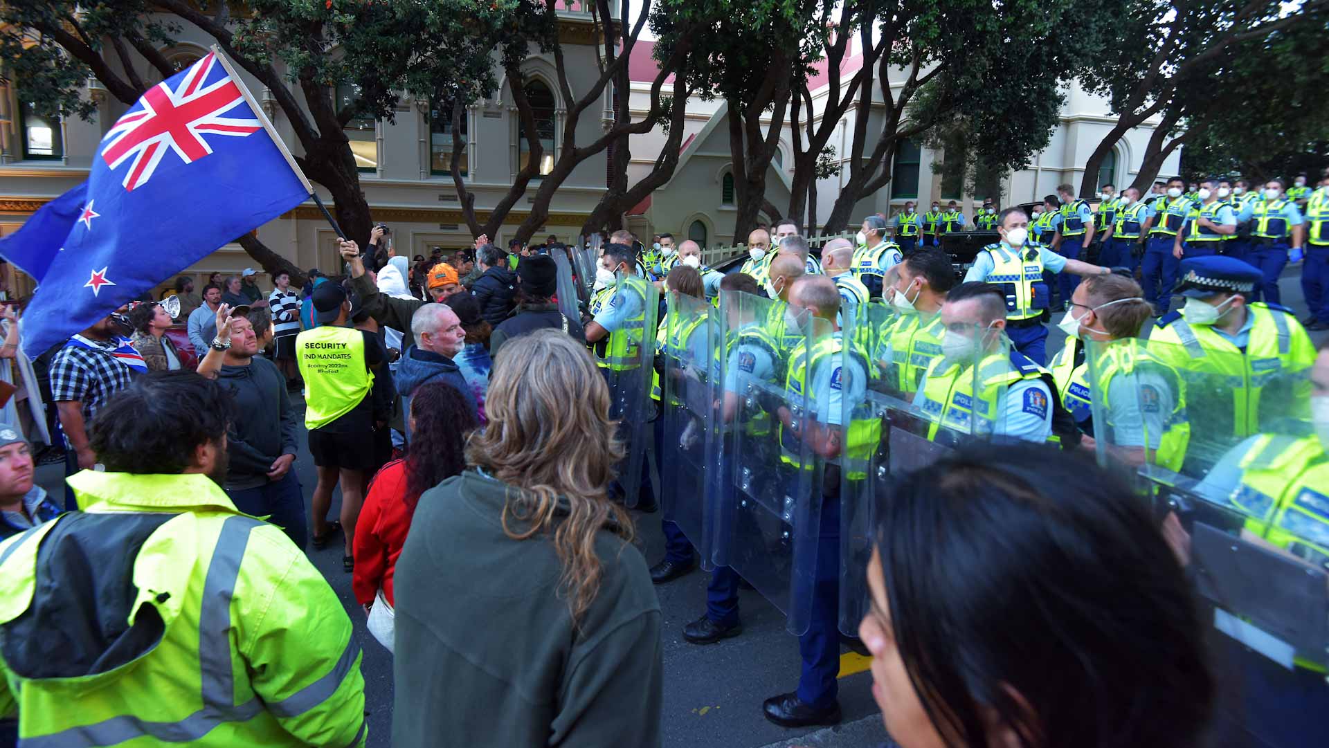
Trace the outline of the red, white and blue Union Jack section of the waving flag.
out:
<instances>
[{"instance_id":1,"label":"red, white and blue Union Jack section of the waving flag","mask_svg":"<svg viewBox=\"0 0 1329 748\"><path fill-rule=\"evenodd\" d=\"M101 158L108 166L117 169L133 159L122 182L126 190L152 179L167 150L174 150L185 163L213 153L203 133L245 137L263 129L255 117L223 116L243 104L245 97L225 70L219 78L213 76L214 68L221 65L211 52L185 70L174 86L171 81L179 76L148 89L136 105L137 112L126 112L102 138ZM214 80L209 81L210 77Z\"/></svg>"}]
</instances>

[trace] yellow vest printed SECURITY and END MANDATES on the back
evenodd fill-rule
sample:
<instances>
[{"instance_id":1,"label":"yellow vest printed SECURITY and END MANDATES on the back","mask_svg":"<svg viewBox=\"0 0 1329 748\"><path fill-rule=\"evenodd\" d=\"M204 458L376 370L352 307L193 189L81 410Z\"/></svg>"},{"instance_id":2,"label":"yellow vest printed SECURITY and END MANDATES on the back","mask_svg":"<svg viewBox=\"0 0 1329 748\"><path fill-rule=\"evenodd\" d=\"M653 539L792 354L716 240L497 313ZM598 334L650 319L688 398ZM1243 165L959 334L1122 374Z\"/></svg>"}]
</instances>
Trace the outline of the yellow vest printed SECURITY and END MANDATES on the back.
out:
<instances>
[{"instance_id":1,"label":"yellow vest printed SECURITY and END MANDATES on the back","mask_svg":"<svg viewBox=\"0 0 1329 748\"><path fill-rule=\"evenodd\" d=\"M304 377L304 428L326 426L359 405L373 387L364 364L364 333L351 327L319 327L295 337Z\"/></svg>"}]
</instances>

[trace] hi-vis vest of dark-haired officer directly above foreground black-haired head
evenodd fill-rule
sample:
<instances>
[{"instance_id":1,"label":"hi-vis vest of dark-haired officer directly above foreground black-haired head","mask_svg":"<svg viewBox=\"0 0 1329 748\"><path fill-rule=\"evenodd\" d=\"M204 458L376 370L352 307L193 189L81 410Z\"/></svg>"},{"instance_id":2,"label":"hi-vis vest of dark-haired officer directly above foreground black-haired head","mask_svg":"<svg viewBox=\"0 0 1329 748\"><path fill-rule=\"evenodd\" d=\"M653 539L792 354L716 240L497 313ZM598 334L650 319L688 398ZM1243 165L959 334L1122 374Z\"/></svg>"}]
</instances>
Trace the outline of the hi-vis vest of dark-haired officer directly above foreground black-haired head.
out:
<instances>
[{"instance_id":1,"label":"hi-vis vest of dark-haired officer directly above foreground black-haired head","mask_svg":"<svg viewBox=\"0 0 1329 748\"><path fill-rule=\"evenodd\" d=\"M978 373L973 367L950 359L937 359L922 383L922 411L932 424L928 438L936 441L942 426L960 433L987 436L997 428L997 400L1011 384L1026 379L1042 379L1047 369L1026 356L1010 351L989 353L978 361ZM974 381L978 392L974 392ZM1053 404L1049 403L1051 409Z\"/></svg>"}]
</instances>

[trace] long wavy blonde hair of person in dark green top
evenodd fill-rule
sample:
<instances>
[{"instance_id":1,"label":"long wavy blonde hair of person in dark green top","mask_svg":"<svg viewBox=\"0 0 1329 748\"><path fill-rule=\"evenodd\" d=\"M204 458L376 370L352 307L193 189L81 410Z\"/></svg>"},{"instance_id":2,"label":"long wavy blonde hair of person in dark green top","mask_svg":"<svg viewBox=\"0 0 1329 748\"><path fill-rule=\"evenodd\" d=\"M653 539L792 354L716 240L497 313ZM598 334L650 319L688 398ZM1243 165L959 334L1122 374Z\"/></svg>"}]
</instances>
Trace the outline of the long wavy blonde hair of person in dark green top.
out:
<instances>
[{"instance_id":1,"label":"long wavy blonde hair of person in dark green top","mask_svg":"<svg viewBox=\"0 0 1329 748\"><path fill-rule=\"evenodd\" d=\"M633 539L633 521L606 490L626 453L609 419L609 387L585 347L561 329L540 329L504 345L485 415L489 424L472 433L466 461L508 485L509 538L553 534L563 566L560 591L575 623L603 573L595 535L610 530L625 545Z\"/></svg>"}]
</instances>

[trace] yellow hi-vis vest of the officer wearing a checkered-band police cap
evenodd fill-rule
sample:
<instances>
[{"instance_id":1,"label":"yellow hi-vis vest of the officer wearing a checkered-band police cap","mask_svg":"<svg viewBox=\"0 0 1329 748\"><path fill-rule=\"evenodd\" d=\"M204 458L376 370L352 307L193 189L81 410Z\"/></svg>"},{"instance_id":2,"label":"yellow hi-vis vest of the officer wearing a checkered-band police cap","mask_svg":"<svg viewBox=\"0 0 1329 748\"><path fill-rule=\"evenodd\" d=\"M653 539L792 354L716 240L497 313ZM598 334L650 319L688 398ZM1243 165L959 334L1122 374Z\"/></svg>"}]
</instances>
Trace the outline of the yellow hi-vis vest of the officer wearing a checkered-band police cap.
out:
<instances>
[{"instance_id":1,"label":"yellow hi-vis vest of the officer wearing a checkered-band police cap","mask_svg":"<svg viewBox=\"0 0 1329 748\"><path fill-rule=\"evenodd\" d=\"M1301 326L1292 327L1296 319L1286 307L1255 303L1247 304L1247 314L1255 316L1255 324L1245 351L1232 345L1212 326L1187 323L1179 311L1163 315L1150 332L1151 344L1167 344L1150 347L1159 360L1179 372L1224 377L1225 387L1232 392L1232 413L1204 416L1220 419L1223 428L1231 428L1235 437L1259 430L1260 395L1271 381L1278 375L1309 369L1316 359L1314 347ZM1294 335L1302 340L1294 340Z\"/></svg>"}]
</instances>

